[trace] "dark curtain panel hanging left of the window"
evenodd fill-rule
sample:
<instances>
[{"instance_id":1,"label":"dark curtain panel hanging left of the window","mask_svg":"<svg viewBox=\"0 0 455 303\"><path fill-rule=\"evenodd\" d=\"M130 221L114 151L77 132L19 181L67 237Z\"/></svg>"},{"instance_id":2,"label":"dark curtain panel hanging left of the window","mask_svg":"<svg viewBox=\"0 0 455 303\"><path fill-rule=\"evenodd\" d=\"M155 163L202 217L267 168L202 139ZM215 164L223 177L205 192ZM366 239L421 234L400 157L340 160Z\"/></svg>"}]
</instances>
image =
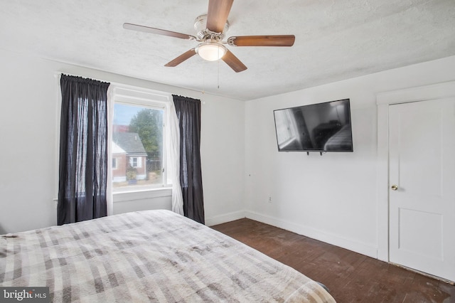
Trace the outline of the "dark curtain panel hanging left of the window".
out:
<instances>
[{"instance_id":1,"label":"dark curtain panel hanging left of the window","mask_svg":"<svg viewBox=\"0 0 455 303\"><path fill-rule=\"evenodd\" d=\"M61 75L58 225L107 216L109 83Z\"/></svg>"}]
</instances>

